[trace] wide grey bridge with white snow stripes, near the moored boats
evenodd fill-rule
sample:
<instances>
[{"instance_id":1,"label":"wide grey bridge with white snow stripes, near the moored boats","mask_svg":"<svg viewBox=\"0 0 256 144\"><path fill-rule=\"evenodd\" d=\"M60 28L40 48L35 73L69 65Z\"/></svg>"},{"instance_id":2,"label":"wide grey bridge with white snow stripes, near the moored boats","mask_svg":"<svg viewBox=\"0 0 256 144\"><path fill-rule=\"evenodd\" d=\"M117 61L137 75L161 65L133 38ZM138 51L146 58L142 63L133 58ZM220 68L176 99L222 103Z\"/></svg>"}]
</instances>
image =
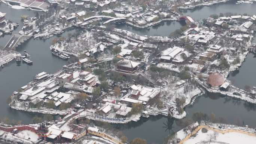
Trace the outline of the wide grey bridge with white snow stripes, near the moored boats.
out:
<instances>
[{"instance_id":1,"label":"wide grey bridge with white snow stripes, near the moored boats","mask_svg":"<svg viewBox=\"0 0 256 144\"><path fill-rule=\"evenodd\" d=\"M15 50L18 45L30 39L31 36L24 36L20 34L14 34L7 44L4 46L4 50Z\"/></svg>"}]
</instances>

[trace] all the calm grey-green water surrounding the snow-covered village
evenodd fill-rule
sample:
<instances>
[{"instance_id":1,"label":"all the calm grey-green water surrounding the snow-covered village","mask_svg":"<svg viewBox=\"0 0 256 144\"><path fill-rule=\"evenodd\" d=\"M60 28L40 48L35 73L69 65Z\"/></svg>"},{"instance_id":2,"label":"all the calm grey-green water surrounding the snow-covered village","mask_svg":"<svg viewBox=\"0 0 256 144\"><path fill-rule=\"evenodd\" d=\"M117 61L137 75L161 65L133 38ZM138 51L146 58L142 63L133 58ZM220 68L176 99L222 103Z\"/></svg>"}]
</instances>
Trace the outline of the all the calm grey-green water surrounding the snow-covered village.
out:
<instances>
[{"instance_id":1,"label":"all the calm grey-green water surrounding the snow-covered village","mask_svg":"<svg viewBox=\"0 0 256 144\"><path fill-rule=\"evenodd\" d=\"M187 10L184 15L191 15L192 18L199 20L207 18L211 14L219 13L248 13L256 14L256 4L235 4L234 1L229 3L216 4L213 6L204 6L194 10ZM7 13L6 18L18 22L20 25L13 33L18 33L23 24L20 21L21 15L33 16L34 11L28 10L15 10L7 7L5 4L0 4L0 11ZM126 25L119 26L125 30L132 31L140 35L149 36L168 36L171 32L180 28L179 22L164 22L158 26L150 27L146 30L137 30ZM62 36L67 33L74 33L76 30L66 31ZM0 37L0 45L5 45L10 39L11 35ZM54 73L66 64L59 58L52 56L49 51L52 39L43 40L30 39L17 48L18 52L23 53L27 50L31 55L33 61L32 66L21 64L16 66L15 63L9 64L0 71L0 117L9 117L10 119L22 120L24 123L30 123L34 114L26 113L23 111L16 111L9 108L6 104L6 99L13 91L17 91L21 86L33 79L33 76L42 71ZM234 85L244 87L244 85L256 86L255 74L255 58L252 54L248 55L246 62L239 71L230 74L229 79L234 81ZM196 99L193 105L185 108L188 117L191 117L195 112L203 112L207 114L214 113L217 117L223 117L229 123L245 123L250 126L256 127L256 106L248 102L239 101L232 98L227 98L218 95L205 94ZM42 116L42 114L39 114ZM180 129L173 119L173 131ZM119 129L124 131L125 135L132 140L135 137L141 137L148 141L149 144L162 144L164 138L167 137L169 131L166 130L164 123L167 123L166 117L156 116L149 119L141 119L139 122L131 122L127 125L119 126ZM170 131L171 132L171 131Z\"/></svg>"}]
</instances>

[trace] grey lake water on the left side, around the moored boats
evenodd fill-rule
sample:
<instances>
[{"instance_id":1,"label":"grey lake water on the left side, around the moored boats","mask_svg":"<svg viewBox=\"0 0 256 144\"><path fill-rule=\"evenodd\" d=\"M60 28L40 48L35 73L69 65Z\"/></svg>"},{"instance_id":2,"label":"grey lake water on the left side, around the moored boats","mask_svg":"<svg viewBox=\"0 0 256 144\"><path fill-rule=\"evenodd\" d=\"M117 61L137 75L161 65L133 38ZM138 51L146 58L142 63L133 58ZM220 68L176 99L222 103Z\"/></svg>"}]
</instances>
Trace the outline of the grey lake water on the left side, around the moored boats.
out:
<instances>
[{"instance_id":1,"label":"grey lake water on the left side, around the moored boats","mask_svg":"<svg viewBox=\"0 0 256 144\"><path fill-rule=\"evenodd\" d=\"M18 34L19 30L23 27L21 22L21 15L33 16L34 11L28 10L16 10L7 7L6 4L0 4L0 10L6 14L6 19L10 19L19 23L19 27L13 31L12 34ZM68 33L74 33L76 30L71 29L65 31L62 36L66 37ZM4 35L0 37L0 45L5 46L12 35ZM0 70L0 117L9 117L9 119L22 120L23 123L31 123L32 117L35 114L27 113L25 111L16 111L9 108L6 103L6 99L12 95L13 91L18 91L22 86L33 80L33 76L45 71L47 73L55 73L61 69L63 65L67 63L60 58L52 56L49 50L52 39L58 38L57 36L51 37L45 41L40 39L33 39L26 41L16 48L16 51L23 54L24 50L31 55L33 65L28 66L25 63L21 63L20 66L16 65L16 62L12 62ZM37 116L43 116L37 114Z\"/></svg>"}]
</instances>

